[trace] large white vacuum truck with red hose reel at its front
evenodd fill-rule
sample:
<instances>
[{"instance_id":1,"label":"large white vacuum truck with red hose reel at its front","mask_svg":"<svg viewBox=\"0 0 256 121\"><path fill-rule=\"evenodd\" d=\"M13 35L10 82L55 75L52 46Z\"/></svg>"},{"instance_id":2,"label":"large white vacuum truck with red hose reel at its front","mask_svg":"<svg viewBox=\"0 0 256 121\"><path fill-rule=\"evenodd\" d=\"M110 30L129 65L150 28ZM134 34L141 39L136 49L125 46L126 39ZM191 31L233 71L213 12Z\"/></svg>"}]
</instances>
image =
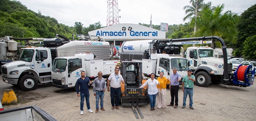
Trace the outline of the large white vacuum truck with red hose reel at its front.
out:
<instances>
[{"instance_id":1,"label":"large white vacuum truck with red hose reel at its front","mask_svg":"<svg viewBox=\"0 0 256 121\"><path fill-rule=\"evenodd\" d=\"M150 59L150 54L168 54L169 56L183 57L184 44L207 44L219 41L222 45L223 59L213 57L213 49L209 47L188 47L186 59L189 60L193 75L196 77L196 85L208 86L212 83L247 87L253 84L253 68L247 67L244 73L238 73L242 68L232 73L232 64L227 63L226 45L218 36L163 39L163 40L138 40L124 42L120 47L120 61L132 61L132 59ZM143 64L142 64L143 66ZM180 64L174 65L180 68ZM172 66L173 68L173 66ZM171 69L172 69L171 68ZM142 69L143 73L144 70ZM179 73L179 72L178 72ZM158 73L157 73L158 74ZM244 78L237 78L237 77Z\"/></svg>"}]
</instances>

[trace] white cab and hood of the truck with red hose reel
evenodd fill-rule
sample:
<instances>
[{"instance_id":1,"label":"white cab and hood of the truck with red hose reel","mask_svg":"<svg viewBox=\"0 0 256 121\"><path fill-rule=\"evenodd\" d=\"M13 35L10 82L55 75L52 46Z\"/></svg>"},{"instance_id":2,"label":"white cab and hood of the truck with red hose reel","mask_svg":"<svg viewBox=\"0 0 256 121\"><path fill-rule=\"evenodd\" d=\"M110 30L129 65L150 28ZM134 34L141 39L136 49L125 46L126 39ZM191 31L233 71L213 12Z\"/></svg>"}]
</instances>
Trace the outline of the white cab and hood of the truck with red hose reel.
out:
<instances>
[{"instance_id":1,"label":"white cab and hood of the truck with red hose reel","mask_svg":"<svg viewBox=\"0 0 256 121\"><path fill-rule=\"evenodd\" d=\"M190 69L199 86L208 86L210 82L220 83L223 76L223 59L213 56L213 48L208 46L188 47L186 58L190 62ZM232 73L232 65L228 65L228 72Z\"/></svg>"}]
</instances>

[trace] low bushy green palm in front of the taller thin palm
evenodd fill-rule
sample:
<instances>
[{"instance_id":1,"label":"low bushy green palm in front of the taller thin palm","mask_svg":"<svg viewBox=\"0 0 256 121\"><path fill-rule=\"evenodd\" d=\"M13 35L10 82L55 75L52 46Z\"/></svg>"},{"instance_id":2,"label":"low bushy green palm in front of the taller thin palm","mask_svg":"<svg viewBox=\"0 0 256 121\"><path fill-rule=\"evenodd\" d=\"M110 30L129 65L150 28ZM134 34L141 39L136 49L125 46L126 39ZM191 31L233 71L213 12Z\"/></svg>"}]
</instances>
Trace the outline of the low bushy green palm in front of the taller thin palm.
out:
<instances>
[{"instance_id":1,"label":"low bushy green palm in front of the taller thin palm","mask_svg":"<svg viewBox=\"0 0 256 121\"><path fill-rule=\"evenodd\" d=\"M223 13L224 4L218 5L214 9L204 7L200 12L200 17L192 18L190 26L196 23L196 36L219 36L225 42L236 42L239 16L237 13L227 11ZM215 44L215 46L220 46Z\"/></svg>"}]
</instances>

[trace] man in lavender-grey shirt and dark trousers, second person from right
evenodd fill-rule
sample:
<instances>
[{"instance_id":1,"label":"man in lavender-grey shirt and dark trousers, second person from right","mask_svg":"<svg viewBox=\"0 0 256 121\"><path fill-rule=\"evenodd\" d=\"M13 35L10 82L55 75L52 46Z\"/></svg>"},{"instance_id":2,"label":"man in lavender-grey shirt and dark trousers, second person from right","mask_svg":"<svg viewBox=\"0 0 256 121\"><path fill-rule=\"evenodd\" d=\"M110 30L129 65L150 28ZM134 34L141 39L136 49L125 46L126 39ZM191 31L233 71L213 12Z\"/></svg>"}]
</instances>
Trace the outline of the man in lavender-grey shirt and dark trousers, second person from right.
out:
<instances>
[{"instance_id":1,"label":"man in lavender-grey shirt and dark trousers, second person from right","mask_svg":"<svg viewBox=\"0 0 256 121\"><path fill-rule=\"evenodd\" d=\"M181 81L180 74L177 73L177 69L173 68L173 74L171 74L170 90L171 90L171 102L167 106L174 106L174 97L175 97L175 106L178 108L178 91L179 91L179 82Z\"/></svg>"}]
</instances>

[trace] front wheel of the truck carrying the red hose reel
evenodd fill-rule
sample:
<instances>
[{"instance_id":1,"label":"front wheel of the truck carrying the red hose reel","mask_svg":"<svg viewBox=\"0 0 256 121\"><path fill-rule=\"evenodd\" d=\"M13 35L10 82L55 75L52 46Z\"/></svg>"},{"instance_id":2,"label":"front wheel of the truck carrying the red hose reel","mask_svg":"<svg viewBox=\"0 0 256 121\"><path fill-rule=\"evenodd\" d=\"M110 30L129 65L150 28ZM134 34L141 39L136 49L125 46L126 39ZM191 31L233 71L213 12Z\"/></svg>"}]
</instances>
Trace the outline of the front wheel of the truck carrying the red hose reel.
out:
<instances>
[{"instance_id":1,"label":"front wheel of the truck carrying the red hose reel","mask_svg":"<svg viewBox=\"0 0 256 121\"><path fill-rule=\"evenodd\" d=\"M195 77L197 86L206 87L211 83L211 76L205 71L196 73Z\"/></svg>"}]
</instances>

